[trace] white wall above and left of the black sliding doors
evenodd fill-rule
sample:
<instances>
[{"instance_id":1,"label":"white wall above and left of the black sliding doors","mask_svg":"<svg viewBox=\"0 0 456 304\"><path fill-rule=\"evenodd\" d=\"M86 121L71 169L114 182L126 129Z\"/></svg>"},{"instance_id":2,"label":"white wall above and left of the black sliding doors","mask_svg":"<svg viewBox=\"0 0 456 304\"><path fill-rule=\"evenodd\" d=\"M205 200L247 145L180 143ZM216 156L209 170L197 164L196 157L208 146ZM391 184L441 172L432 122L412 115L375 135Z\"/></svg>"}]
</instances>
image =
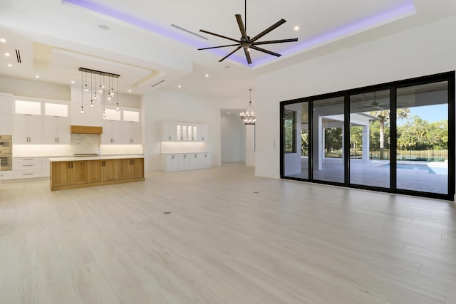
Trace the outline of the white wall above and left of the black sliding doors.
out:
<instances>
[{"instance_id":1,"label":"white wall above and left of the black sliding doors","mask_svg":"<svg viewBox=\"0 0 456 304\"><path fill-rule=\"evenodd\" d=\"M279 178L279 102L456 69L456 17L257 78L255 174Z\"/></svg>"}]
</instances>

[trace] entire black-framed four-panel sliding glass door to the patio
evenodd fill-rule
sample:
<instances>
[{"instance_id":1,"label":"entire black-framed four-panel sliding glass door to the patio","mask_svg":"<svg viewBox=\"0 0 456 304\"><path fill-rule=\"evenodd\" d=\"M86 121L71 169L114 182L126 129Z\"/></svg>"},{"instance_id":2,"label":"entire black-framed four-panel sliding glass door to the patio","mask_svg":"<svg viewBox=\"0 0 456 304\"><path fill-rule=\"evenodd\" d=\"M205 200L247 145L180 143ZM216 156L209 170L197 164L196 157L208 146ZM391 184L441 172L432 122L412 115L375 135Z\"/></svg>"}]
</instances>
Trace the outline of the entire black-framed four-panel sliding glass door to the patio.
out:
<instances>
[{"instance_id":1,"label":"entire black-framed four-panel sliding glass door to the patio","mask_svg":"<svg viewBox=\"0 0 456 304\"><path fill-rule=\"evenodd\" d=\"M454 199L455 72L281 103L281 177Z\"/></svg>"}]
</instances>

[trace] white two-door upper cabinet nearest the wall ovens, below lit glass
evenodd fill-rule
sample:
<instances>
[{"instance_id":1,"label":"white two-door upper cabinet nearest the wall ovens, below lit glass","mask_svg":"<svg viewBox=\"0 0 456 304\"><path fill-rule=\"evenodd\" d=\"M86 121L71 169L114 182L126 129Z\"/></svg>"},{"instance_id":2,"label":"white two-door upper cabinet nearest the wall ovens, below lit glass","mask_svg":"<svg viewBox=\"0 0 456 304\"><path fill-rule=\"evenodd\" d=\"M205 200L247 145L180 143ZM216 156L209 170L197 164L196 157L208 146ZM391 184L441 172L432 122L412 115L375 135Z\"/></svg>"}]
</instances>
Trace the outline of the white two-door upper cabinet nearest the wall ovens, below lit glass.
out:
<instances>
[{"instance_id":1,"label":"white two-door upper cabinet nearest the wall ovens, below lit glass","mask_svg":"<svg viewBox=\"0 0 456 304\"><path fill-rule=\"evenodd\" d=\"M13 143L43 143L43 117L41 115L14 114Z\"/></svg>"}]
</instances>

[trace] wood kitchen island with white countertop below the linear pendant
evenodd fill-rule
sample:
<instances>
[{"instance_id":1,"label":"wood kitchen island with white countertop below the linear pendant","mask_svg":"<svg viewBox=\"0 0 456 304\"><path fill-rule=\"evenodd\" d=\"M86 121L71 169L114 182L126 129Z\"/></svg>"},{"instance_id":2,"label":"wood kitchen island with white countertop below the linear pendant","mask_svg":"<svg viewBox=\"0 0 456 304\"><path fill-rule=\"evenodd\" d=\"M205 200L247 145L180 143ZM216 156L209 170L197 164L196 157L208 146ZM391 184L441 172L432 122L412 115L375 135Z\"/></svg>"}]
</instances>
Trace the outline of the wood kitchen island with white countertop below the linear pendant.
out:
<instances>
[{"instance_id":1,"label":"wood kitchen island with white countertop below the linear pendant","mask_svg":"<svg viewBox=\"0 0 456 304\"><path fill-rule=\"evenodd\" d=\"M52 191L145 180L144 157L139 155L52 157L49 160Z\"/></svg>"}]
</instances>

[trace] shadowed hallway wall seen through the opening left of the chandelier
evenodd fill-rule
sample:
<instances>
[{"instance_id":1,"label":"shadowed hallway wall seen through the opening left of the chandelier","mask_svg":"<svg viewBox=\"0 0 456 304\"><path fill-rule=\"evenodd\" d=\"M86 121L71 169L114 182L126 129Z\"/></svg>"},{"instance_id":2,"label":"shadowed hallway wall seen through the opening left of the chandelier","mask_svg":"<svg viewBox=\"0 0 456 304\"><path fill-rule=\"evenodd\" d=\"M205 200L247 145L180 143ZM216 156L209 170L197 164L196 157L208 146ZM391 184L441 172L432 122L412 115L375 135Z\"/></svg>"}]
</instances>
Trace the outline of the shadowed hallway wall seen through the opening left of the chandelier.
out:
<instances>
[{"instance_id":1,"label":"shadowed hallway wall seen through the opening left of the chandelier","mask_svg":"<svg viewBox=\"0 0 456 304\"><path fill-rule=\"evenodd\" d=\"M239 117L242 110L222 110L221 113L221 161L245 162L246 129Z\"/></svg>"}]
</instances>

